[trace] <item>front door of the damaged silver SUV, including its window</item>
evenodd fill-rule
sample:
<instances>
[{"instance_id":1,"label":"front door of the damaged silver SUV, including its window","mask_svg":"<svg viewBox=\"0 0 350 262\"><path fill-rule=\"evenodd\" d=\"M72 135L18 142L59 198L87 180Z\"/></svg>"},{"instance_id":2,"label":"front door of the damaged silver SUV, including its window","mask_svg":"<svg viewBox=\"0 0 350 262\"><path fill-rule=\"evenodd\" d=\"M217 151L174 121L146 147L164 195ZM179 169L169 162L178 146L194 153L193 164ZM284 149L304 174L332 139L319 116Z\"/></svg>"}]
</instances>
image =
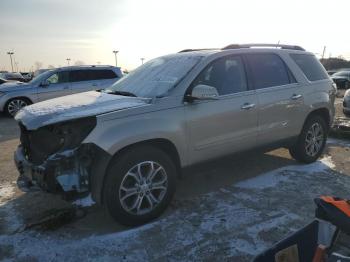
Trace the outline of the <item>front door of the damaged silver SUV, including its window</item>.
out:
<instances>
[{"instance_id":1,"label":"front door of the damaged silver SUV, including its window","mask_svg":"<svg viewBox=\"0 0 350 262\"><path fill-rule=\"evenodd\" d=\"M185 105L191 163L248 149L256 145L257 97L247 84L241 56L229 56L209 64L191 84L218 90L218 100Z\"/></svg>"}]
</instances>

